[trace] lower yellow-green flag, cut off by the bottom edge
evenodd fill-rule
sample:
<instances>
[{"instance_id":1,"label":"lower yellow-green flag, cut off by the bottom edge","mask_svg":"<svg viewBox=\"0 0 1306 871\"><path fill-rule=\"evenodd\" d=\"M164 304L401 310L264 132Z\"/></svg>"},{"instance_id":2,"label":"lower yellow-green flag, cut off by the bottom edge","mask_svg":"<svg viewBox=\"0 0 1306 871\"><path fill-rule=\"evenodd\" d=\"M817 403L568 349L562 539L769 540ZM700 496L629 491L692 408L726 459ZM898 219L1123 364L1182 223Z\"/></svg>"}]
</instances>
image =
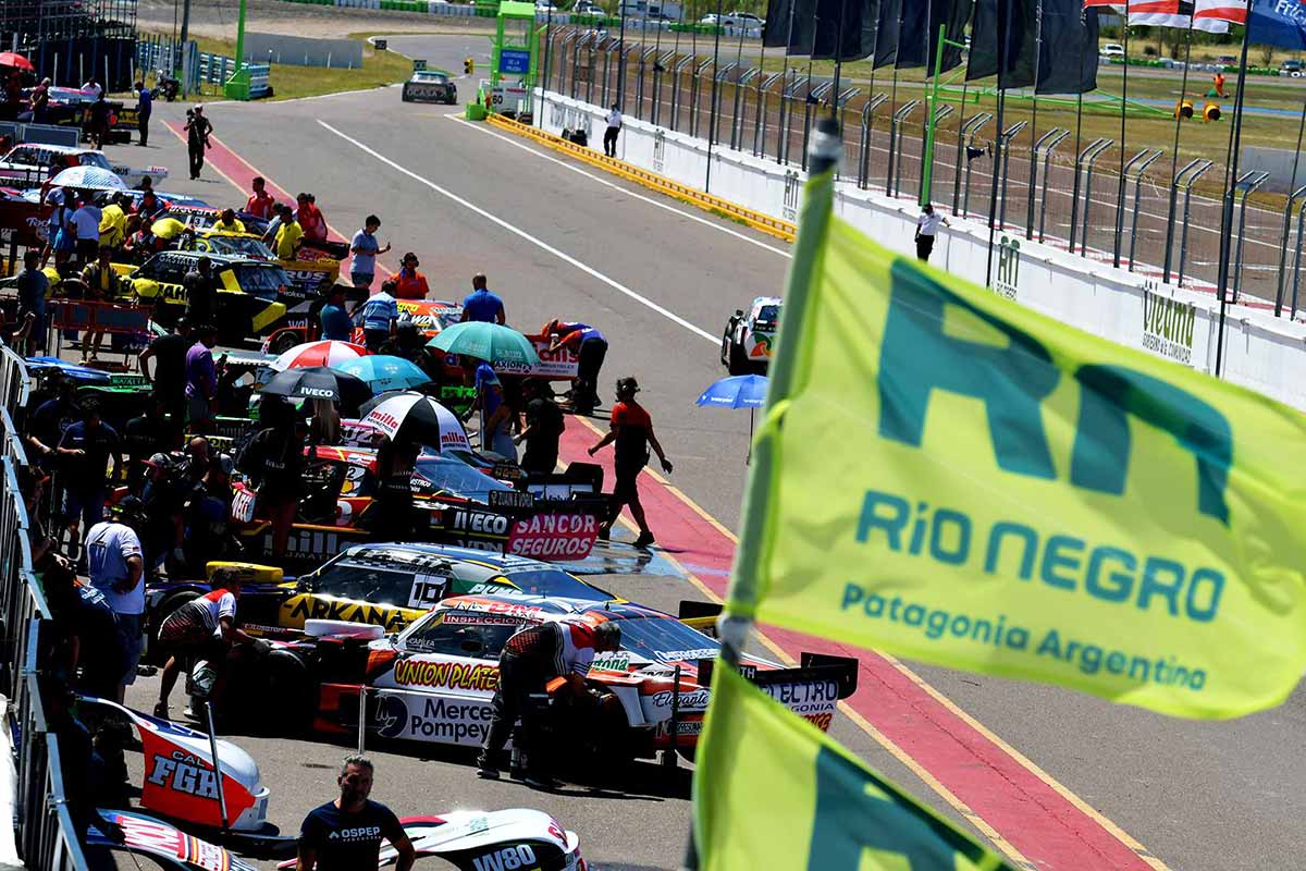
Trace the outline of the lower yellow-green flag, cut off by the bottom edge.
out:
<instances>
[{"instance_id":1,"label":"lower yellow-green flag, cut off by the bottom edge","mask_svg":"<svg viewBox=\"0 0 1306 871\"><path fill-rule=\"evenodd\" d=\"M1010 871L733 669L714 670L697 765L703 871Z\"/></svg>"}]
</instances>

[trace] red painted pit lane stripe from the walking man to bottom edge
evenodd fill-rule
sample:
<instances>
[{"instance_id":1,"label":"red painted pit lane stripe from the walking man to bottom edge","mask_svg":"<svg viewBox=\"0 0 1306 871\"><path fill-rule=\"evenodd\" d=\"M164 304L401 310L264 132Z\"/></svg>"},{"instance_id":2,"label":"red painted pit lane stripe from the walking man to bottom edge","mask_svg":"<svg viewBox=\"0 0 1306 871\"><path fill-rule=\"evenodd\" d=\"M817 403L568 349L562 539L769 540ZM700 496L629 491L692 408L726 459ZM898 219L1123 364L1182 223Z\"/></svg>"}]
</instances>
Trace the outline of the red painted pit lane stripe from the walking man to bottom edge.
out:
<instances>
[{"instance_id":1,"label":"red painted pit lane stripe from the walking man to bottom edge","mask_svg":"<svg viewBox=\"0 0 1306 871\"><path fill-rule=\"evenodd\" d=\"M589 460L602 432L588 419L568 427L559 462ZM611 454L599 454L609 475ZM714 601L725 595L735 537L666 479L641 473L640 499L658 518L658 551L692 564L690 580ZM626 518L622 518L626 522ZM671 551L670 554L667 551ZM687 572L688 573L688 572ZM849 720L922 781L1021 868L1164 871L1165 864L1047 773L895 659L871 650L767 627L761 636L788 663L798 652L857 657L857 692L840 703Z\"/></svg>"}]
</instances>

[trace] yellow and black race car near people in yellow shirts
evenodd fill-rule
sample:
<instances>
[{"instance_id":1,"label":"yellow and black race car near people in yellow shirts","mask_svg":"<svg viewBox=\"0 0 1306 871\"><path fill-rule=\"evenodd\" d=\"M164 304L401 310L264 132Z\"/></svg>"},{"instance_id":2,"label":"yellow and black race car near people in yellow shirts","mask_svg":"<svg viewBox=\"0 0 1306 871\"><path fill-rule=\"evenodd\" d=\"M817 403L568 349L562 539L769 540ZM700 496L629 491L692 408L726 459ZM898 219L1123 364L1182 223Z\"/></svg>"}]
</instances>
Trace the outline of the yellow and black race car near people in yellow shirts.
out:
<instances>
[{"instance_id":1,"label":"yellow and black race car near people in yellow shirts","mask_svg":"<svg viewBox=\"0 0 1306 871\"><path fill-rule=\"evenodd\" d=\"M201 255L193 251L157 253L120 282L120 296L154 304L154 320L171 324L185 313L182 281ZM283 294L290 278L276 262L208 255L218 277L218 341L239 347L251 336L270 332L286 316Z\"/></svg>"}]
</instances>

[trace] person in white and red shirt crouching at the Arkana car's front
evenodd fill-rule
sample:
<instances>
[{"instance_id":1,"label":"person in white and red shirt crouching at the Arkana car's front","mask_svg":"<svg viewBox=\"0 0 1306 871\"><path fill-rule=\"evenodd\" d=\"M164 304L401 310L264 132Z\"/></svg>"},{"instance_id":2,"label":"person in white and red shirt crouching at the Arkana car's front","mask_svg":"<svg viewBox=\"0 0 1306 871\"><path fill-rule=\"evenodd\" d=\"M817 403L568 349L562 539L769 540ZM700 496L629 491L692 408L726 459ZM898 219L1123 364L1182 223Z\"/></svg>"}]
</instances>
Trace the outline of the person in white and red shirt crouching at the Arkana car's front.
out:
<instances>
[{"instance_id":1,"label":"person in white and red shirt crouching at the Arkana car's front","mask_svg":"<svg viewBox=\"0 0 1306 871\"><path fill-rule=\"evenodd\" d=\"M240 576L230 569L213 573L213 590L172 611L159 627L158 642L171 652L159 680L159 701L154 716L168 720L167 700L176 686L183 663L187 671L200 659L221 666L232 644L249 644L265 656L272 645L236 628L236 602Z\"/></svg>"}]
</instances>

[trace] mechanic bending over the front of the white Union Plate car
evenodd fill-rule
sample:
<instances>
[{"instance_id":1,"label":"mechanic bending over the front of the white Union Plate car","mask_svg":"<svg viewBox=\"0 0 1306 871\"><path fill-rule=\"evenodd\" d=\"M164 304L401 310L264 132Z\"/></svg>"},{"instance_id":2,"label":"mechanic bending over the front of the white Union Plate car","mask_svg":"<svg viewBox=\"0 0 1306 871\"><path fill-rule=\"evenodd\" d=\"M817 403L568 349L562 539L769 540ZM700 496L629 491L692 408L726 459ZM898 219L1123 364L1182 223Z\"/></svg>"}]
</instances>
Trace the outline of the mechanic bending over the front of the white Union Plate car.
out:
<instances>
[{"instance_id":1,"label":"mechanic bending over the front of the white Union Plate car","mask_svg":"<svg viewBox=\"0 0 1306 871\"><path fill-rule=\"evenodd\" d=\"M494 721L481 746L477 774L488 780L499 778L499 757L521 717L522 752L526 755L526 785L551 789L555 781L545 770L545 753L538 746L539 706L530 696L546 693L549 684L563 679L562 692L573 699L589 699L585 676L596 653L616 650L622 646L622 628L609 620L598 626L588 623L545 623L516 633L499 657L499 688L494 693Z\"/></svg>"}]
</instances>

